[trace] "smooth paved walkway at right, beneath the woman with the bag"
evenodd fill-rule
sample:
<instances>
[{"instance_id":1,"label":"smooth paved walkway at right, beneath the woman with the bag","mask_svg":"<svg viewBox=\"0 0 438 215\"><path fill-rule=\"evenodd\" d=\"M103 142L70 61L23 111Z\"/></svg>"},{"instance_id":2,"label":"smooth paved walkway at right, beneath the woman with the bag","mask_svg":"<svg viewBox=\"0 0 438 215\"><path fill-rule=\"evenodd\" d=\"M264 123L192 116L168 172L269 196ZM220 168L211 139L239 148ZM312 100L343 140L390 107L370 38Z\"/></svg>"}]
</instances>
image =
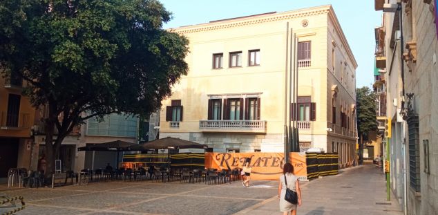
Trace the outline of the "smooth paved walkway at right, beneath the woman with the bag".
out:
<instances>
[{"instance_id":1,"label":"smooth paved walkway at right, beneath the woman with the bag","mask_svg":"<svg viewBox=\"0 0 438 215\"><path fill-rule=\"evenodd\" d=\"M381 169L363 165L341 170L341 174L302 182L303 205L297 214L403 214L394 196L386 200L386 183ZM273 196L236 214L280 214Z\"/></svg>"}]
</instances>

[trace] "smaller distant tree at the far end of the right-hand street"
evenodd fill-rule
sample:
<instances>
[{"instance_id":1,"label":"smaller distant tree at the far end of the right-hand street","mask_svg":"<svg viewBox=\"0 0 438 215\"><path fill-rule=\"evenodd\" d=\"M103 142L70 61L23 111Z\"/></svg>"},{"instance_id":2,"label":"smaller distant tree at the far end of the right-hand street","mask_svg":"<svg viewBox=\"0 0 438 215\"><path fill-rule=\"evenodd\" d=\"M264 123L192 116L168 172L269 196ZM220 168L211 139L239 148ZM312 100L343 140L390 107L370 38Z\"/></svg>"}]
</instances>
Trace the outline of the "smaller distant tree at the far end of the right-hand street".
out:
<instances>
[{"instance_id":1,"label":"smaller distant tree at the far end of the right-hand street","mask_svg":"<svg viewBox=\"0 0 438 215\"><path fill-rule=\"evenodd\" d=\"M363 138L377 131L376 95L368 86L356 89L357 130L359 133L359 160L363 163Z\"/></svg>"}]
</instances>

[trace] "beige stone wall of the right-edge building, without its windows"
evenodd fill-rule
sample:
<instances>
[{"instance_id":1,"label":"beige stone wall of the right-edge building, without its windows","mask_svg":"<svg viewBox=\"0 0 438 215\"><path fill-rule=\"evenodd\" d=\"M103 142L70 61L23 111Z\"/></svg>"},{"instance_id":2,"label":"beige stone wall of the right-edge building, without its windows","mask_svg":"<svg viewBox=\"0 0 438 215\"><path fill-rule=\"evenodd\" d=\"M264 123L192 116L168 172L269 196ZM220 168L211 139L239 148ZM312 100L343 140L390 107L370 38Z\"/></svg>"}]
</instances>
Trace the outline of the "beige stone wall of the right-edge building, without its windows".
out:
<instances>
[{"instance_id":1,"label":"beige stone wall of the right-edge building, without its windows","mask_svg":"<svg viewBox=\"0 0 438 215\"><path fill-rule=\"evenodd\" d=\"M410 7L406 3L403 3L403 11L401 11L403 19L403 37L404 37L404 53L408 53L406 43L415 41L417 44L417 58L416 62L403 62L404 63L404 87L406 93L414 93L412 108L419 116L419 173L420 173L420 186L421 191L415 192L410 187L410 165L409 165L409 153L405 147L408 145L403 144L403 138L406 138L406 144L409 142L408 136L408 124L402 120L397 109L401 108L401 67L400 65L400 47L397 46L395 55L392 55L392 50L389 47L389 41L391 37L392 21L394 15L391 13L384 14L384 23L386 29L385 35L385 49L386 49L386 66L387 73L385 78L387 79L386 88L388 95L387 115L392 117L392 138L391 142L391 187L395 196L399 199L400 203L403 203L403 160L408 162L406 172L408 174L407 186L407 214L435 214L438 211L438 147L434 144L438 140L438 65L436 58L438 55L438 41L437 32L435 27L435 16L431 12L433 1L428 4L423 1L408 1L411 3ZM396 3L395 0L390 0L390 3ZM406 11L406 9L410 9ZM390 63L394 57L392 69L390 69ZM393 105L393 100L396 106ZM408 97L404 98L408 102ZM423 148L423 140L429 142L429 168L430 173L424 171L426 154ZM406 150L406 151L404 151ZM406 154L406 157L404 155ZM404 209L404 208L402 208Z\"/></svg>"}]
</instances>

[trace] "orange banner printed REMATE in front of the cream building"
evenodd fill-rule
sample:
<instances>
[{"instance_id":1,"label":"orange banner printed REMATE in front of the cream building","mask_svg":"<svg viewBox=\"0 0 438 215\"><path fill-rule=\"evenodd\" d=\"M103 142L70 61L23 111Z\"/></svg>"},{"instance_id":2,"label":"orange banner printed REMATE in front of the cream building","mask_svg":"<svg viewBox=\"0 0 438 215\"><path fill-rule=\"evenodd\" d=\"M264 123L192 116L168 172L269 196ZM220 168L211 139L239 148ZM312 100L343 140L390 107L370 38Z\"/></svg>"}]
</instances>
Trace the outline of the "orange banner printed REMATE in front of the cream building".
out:
<instances>
[{"instance_id":1,"label":"orange banner printed REMATE in front of the cream building","mask_svg":"<svg viewBox=\"0 0 438 215\"><path fill-rule=\"evenodd\" d=\"M283 153L205 153L205 167L219 170L242 168L246 158L251 159L251 180L278 180L283 174ZM307 180L305 154L293 152L290 158L294 174L300 180Z\"/></svg>"}]
</instances>

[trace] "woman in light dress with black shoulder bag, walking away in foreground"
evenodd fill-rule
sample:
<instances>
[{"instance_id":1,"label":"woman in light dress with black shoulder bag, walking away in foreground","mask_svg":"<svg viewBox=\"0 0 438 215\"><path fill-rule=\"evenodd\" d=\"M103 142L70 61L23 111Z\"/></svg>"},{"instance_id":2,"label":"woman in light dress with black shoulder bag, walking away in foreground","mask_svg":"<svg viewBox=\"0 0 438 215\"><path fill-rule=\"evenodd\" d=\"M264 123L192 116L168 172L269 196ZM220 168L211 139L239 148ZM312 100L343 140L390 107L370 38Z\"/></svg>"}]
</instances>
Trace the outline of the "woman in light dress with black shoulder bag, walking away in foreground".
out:
<instances>
[{"instance_id":1,"label":"woman in light dress with black shoulder bag, walking away in foreground","mask_svg":"<svg viewBox=\"0 0 438 215\"><path fill-rule=\"evenodd\" d=\"M294 166L290 163L286 163L283 167L283 174L280 175L278 181L278 198L280 198L280 211L283 215L287 215L291 212L291 215L296 215L295 204L289 203L285 200L286 188L296 191L298 196L298 206L301 206L301 190L298 183L298 177L294 175Z\"/></svg>"}]
</instances>

